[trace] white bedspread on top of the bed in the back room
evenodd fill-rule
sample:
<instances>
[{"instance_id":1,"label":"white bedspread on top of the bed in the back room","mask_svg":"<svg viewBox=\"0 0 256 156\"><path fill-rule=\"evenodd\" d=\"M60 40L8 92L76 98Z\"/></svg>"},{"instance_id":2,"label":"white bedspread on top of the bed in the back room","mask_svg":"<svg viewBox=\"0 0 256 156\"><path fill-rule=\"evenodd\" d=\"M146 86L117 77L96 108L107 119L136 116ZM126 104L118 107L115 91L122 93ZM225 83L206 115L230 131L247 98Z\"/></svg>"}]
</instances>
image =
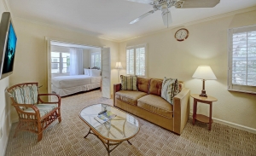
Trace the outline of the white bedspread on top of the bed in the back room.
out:
<instances>
[{"instance_id":1,"label":"white bedspread on top of the bed in the back room","mask_svg":"<svg viewBox=\"0 0 256 156\"><path fill-rule=\"evenodd\" d=\"M102 77L91 77L87 75L61 76L51 79L51 83L59 89L96 84L101 82Z\"/></svg>"}]
</instances>

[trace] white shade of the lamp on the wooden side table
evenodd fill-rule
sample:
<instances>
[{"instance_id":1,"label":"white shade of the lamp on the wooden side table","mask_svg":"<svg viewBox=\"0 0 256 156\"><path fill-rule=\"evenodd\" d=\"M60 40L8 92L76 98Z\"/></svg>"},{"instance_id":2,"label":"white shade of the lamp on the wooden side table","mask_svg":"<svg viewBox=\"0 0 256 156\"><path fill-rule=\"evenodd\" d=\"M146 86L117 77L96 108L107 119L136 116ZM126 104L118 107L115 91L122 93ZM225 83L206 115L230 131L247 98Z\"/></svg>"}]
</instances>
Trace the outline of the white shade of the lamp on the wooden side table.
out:
<instances>
[{"instance_id":1,"label":"white shade of the lamp on the wooden side table","mask_svg":"<svg viewBox=\"0 0 256 156\"><path fill-rule=\"evenodd\" d=\"M198 66L192 78L217 79L214 73L212 72L212 68L207 65Z\"/></svg>"}]
</instances>

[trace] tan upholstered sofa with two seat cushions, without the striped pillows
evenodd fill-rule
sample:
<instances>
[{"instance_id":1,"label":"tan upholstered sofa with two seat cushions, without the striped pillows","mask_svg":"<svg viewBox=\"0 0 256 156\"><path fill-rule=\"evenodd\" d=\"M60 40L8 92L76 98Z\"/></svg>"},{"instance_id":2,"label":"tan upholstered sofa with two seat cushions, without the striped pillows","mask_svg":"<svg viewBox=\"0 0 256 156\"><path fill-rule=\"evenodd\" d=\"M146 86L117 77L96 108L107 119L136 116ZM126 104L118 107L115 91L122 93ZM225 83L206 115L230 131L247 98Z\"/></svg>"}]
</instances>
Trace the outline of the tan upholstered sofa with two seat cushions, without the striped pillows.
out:
<instances>
[{"instance_id":1,"label":"tan upholstered sofa with two seat cushions, without the striped pillows","mask_svg":"<svg viewBox=\"0 0 256 156\"><path fill-rule=\"evenodd\" d=\"M173 105L161 98L162 79L137 78L138 91L113 84L113 105L180 135L189 118L190 90L179 82Z\"/></svg>"}]
</instances>

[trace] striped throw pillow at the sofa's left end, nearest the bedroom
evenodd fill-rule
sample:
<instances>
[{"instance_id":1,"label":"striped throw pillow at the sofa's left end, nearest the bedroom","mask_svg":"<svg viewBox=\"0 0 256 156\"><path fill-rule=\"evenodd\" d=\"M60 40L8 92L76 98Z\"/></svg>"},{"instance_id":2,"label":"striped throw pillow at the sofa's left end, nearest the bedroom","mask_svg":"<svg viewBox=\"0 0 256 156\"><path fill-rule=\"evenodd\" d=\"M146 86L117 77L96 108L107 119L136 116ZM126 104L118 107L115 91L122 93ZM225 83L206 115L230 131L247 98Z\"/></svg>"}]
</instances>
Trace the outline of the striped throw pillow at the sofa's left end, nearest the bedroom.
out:
<instances>
[{"instance_id":1,"label":"striped throw pillow at the sofa's left end, nearest the bedroom","mask_svg":"<svg viewBox=\"0 0 256 156\"><path fill-rule=\"evenodd\" d=\"M137 91L137 76L124 76L121 75L121 89Z\"/></svg>"}]
</instances>

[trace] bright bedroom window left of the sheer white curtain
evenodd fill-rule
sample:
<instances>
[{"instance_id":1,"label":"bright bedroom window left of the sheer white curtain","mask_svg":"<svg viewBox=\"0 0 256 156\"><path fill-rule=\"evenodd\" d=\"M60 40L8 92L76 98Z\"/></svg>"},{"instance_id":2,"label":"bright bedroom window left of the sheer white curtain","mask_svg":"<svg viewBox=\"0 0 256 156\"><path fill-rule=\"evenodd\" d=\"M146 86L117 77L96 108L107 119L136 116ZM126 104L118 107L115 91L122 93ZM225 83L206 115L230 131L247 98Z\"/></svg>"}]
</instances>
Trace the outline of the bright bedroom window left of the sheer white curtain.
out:
<instances>
[{"instance_id":1,"label":"bright bedroom window left of the sheer white curtain","mask_svg":"<svg viewBox=\"0 0 256 156\"><path fill-rule=\"evenodd\" d=\"M69 65L69 53L51 52L51 73L67 73Z\"/></svg>"}]
</instances>

